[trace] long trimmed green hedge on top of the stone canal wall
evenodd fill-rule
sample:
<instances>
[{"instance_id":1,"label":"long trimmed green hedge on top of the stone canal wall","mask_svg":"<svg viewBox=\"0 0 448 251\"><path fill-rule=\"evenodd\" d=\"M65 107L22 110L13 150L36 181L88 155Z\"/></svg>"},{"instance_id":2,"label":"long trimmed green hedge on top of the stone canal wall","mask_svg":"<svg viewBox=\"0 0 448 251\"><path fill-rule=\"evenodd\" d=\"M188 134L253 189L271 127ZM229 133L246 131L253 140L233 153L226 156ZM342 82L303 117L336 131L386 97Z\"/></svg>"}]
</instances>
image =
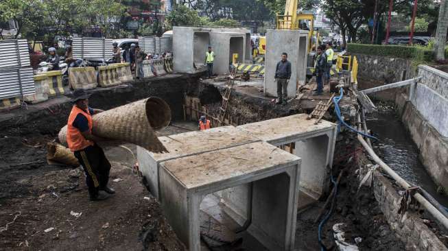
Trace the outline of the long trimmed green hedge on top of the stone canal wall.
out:
<instances>
[{"instance_id":1,"label":"long trimmed green hedge on top of the stone canal wall","mask_svg":"<svg viewBox=\"0 0 448 251\"><path fill-rule=\"evenodd\" d=\"M386 56L390 58L405 58L414 61L431 61L432 49L423 46L403 45L364 45L349 43L347 52L352 54L366 54L374 56Z\"/></svg>"}]
</instances>

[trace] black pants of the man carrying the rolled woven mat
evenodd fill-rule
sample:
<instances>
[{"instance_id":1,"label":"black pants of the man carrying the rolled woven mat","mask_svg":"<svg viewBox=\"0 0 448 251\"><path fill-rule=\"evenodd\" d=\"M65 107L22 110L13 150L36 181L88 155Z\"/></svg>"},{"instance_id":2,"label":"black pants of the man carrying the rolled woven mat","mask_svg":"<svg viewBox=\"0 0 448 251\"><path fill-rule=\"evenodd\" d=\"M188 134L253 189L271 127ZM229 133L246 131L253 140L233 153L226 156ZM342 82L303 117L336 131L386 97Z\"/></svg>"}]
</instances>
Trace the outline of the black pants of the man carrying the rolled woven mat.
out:
<instances>
[{"instance_id":1,"label":"black pants of the man carrying the rolled woven mat","mask_svg":"<svg viewBox=\"0 0 448 251\"><path fill-rule=\"evenodd\" d=\"M78 158L86 173L89 195L97 196L98 190L106 187L109 180L110 163L104 155L104 151L95 144L76 151L75 157Z\"/></svg>"}]
</instances>

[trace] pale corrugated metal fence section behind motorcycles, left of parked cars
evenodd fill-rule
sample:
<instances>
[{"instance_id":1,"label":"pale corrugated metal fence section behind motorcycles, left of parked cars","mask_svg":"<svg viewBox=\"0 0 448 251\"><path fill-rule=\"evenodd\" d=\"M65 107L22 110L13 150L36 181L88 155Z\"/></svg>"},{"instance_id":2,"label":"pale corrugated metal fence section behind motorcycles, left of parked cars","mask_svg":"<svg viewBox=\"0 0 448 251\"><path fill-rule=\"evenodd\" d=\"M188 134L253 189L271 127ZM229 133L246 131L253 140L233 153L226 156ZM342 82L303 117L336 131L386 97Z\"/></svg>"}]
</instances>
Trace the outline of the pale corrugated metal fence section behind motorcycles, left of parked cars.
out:
<instances>
[{"instance_id":1,"label":"pale corrugated metal fence section behind motorcycles, left of parked cars","mask_svg":"<svg viewBox=\"0 0 448 251\"><path fill-rule=\"evenodd\" d=\"M74 58L104 58L113 57L112 39L109 38L73 38L71 44Z\"/></svg>"}]
</instances>

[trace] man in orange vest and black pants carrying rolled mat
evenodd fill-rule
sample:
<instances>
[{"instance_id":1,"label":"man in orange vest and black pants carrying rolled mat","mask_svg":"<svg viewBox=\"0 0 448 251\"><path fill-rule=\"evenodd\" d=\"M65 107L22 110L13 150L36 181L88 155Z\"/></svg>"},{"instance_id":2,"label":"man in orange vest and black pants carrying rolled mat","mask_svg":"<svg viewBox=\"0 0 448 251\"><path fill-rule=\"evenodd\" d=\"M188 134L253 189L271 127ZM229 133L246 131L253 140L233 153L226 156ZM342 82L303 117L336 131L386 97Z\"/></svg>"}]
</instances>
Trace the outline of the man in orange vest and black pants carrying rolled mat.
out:
<instances>
[{"instance_id":1,"label":"man in orange vest and black pants carrying rolled mat","mask_svg":"<svg viewBox=\"0 0 448 251\"><path fill-rule=\"evenodd\" d=\"M97 145L98 141L105 139L92 134L92 115L103 110L89 107L89 95L83 89L73 92L71 102L73 108L67 122L67 144L86 173L90 200L106 200L106 193L113 194L115 190L107 186L110 163L102 148Z\"/></svg>"}]
</instances>

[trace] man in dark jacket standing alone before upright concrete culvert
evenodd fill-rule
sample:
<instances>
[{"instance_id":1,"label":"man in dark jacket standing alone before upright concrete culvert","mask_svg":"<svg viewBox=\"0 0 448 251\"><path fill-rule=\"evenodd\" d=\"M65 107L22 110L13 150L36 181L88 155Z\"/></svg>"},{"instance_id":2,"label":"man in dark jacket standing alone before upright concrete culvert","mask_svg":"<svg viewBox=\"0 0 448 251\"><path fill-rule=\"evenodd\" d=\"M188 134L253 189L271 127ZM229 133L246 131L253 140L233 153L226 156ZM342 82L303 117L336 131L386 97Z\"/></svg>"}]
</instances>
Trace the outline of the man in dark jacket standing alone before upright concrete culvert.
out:
<instances>
[{"instance_id":1,"label":"man in dark jacket standing alone before upright concrete culvert","mask_svg":"<svg viewBox=\"0 0 448 251\"><path fill-rule=\"evenodd\" d=\"M281 60L275 67L275 81L277 82L277 102L276 104L286 105L287 84L291 78L291 63L287 60L287 53L281 53ZM283 93L282 93L283 91Z\"/></svg>"}]
</instances>

